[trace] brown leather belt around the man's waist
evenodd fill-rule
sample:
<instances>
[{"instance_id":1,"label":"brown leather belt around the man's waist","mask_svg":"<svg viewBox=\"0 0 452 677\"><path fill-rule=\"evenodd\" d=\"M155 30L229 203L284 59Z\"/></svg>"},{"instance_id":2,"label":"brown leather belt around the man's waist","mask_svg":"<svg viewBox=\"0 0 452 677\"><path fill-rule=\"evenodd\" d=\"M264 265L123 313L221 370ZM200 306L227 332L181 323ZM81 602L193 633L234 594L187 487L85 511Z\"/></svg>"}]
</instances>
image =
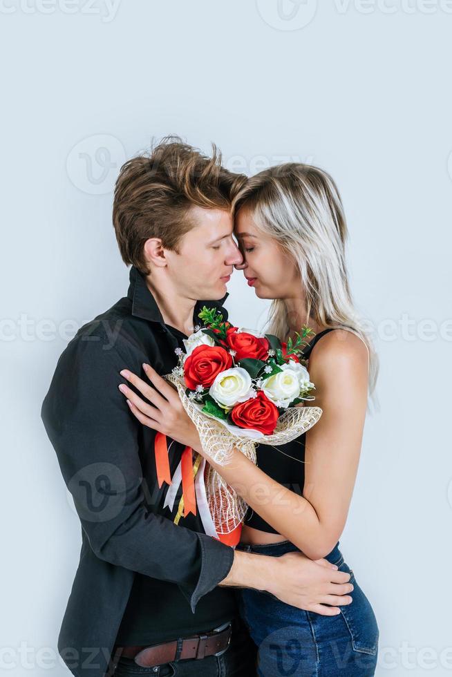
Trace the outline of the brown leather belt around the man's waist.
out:
<instances>
[{"instance_id":1,"label":"brown leather belt around the man's waist","mask_svg":"<svg viewBox=\"0 0 452 677\"><path fill-rule=\"evenodd\" d=\"M179 638L153 646L115 647L115 663L122 656L133 658L141 667L154 667L184 658L204 658L224 654L231 641L232 622L204 634Z\"/></svg>"}]
</instances>

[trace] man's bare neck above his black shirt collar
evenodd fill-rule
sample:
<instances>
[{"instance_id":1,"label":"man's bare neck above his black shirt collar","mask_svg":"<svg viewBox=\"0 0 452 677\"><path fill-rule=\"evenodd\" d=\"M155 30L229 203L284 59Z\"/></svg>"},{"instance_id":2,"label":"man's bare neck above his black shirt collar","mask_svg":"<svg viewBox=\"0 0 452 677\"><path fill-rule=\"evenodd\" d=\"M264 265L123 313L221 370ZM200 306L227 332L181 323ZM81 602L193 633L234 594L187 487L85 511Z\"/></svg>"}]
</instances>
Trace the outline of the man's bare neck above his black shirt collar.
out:
<instances>
[{"instance_id":1,"label":"man's bare neck above his black shirt collar","mask_svg":"<svg viewBox=\"0 0 452 677\"><path fill-rule=\"evenodd\" d=\"M193 314L196 300L181 296L169 278L160 280L158 276L153 276L151 280L150 276L147 276L146 284L156 299L164 323L170 327L175 327L187 336L192 334L194 332Z\"/></svg>"}]
</instances>

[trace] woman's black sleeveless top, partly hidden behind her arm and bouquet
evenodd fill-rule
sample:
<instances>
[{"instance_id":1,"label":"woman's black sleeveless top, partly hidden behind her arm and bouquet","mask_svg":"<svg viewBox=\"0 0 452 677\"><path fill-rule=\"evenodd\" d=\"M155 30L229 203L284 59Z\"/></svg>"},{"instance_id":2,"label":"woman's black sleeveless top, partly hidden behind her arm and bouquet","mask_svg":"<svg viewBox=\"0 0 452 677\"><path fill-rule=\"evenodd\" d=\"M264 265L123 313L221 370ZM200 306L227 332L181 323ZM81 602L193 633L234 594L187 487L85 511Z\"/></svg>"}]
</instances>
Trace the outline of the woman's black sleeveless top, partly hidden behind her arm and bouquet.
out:
<instances>
[{"instance_id":1,"label":"woman's black sleeveless top, partly hidden behind her arm and bouquet","mask_svg":"<svg viewBox=\"0 0 452 677\"><path fill-rule=\"evenodd\" d=\"M343 325L348 327L348 325ZM303 350L303 358L309 359L310 353L314 345L319 341L324 334L334 332L335 329L343 327L330 327L323 332L316 334L314 338L305 345ZM352 329L353 327L348 327ZM309 406L309 403L308 403ZM315 400L312 401L311 406L315 406ZM288 442L288 444L281 444L280 446L269 446L267 444L259 443L256 446L257 466L263 470L265 475L269 475L272 479L279 482L288 489L294 491L299 496L303 495L303 488L305 484L305 438L306 433ZM258 513L252 508L248 508L245 515L245 526L252 526L260 531L268 533L279 533L270 524L267 524Z\"/></svg>"}]
</instances>

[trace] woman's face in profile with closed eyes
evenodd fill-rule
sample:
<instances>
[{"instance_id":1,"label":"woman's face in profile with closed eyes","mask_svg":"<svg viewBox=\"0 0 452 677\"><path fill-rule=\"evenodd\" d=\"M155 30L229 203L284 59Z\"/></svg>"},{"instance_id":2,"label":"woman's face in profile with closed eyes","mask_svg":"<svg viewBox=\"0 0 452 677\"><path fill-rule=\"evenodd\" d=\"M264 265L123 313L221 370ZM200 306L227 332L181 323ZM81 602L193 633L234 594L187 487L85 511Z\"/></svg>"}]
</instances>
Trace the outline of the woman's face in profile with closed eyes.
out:
<instances>
[{"instance_id":1,"label":"woman's face in profile with closed eyes","mask_svg":"<svg viewBox=\"0 0 452 677\"><path fill-rule=\"evenodd\" d=\"M299 296L299 271L279 243L254 222L251 211L242 207L236 213L234 234L243 255L243 269L248 285L259 298L291 298Z\"/></svg>"}]
</instances>

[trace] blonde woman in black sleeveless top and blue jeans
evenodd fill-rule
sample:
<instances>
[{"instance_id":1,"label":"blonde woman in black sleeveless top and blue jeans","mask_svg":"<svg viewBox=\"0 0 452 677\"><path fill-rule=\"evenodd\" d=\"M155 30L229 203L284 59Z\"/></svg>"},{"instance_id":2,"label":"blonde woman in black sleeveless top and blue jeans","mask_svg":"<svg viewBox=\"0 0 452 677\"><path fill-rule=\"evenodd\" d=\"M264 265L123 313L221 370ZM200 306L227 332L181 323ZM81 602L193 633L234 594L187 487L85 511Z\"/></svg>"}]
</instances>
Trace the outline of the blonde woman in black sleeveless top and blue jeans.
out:
<instances>
[{"instance_id":1,"label":"blonde woman in black sleeveless top and blue jeans","mask_svg":"<svg viewBox=\"0 0 452 677\"><path fill-rule=\"evenodd\" d=\"M272 299L267 333L288 341L303 323L315 332L305 357L316 385L315 405L323 410L317 425L294 442L279 448L260 444L256 466L237 450L227 466L212 463L249 505L237 548L274 557L296 551L312 560L326 557L351 573L354 586L352 604L340 607L337 616L241 589L241 615L259 647L258 674L371 676L377 621L343 560L339 537L378 366L350 296L341 199L326 172L290 163L251 178L234 209L244 257L238 267L256 296ZM155 385L155 372L149 368L147 373ZM133 401L140 406L136 397ZM138 419L154 427L140 408L131 404Z\"/></svg>"}]
</instances>

